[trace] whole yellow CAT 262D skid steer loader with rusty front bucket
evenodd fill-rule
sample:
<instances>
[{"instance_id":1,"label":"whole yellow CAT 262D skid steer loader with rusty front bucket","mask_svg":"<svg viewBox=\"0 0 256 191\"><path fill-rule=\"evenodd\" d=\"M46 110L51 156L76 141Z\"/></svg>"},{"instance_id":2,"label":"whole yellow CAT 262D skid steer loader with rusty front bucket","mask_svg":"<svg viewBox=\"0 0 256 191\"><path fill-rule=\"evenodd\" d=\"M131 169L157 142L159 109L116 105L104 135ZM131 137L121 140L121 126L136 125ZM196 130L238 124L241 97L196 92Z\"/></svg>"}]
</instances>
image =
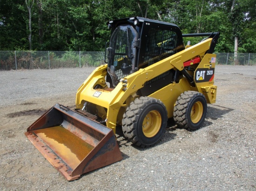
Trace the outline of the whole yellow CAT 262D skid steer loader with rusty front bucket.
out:
<instances>
[{"instance_id":1,"label":"whole yellow CAT 262D skid steer loader with rusty front bucket","mask_svg":"<svg viewBox=\"0 0 256 191\"><path fill-rule=\"evenodd\" d=\"M25 133L67 180L122 159L116 127L136 146L153 146L168 118L195 130L216 102L219 32L182 35L177 25L139 17L107 24L106 64L78 89L76 108L56 104ZM207 38L185 46L182 37Z\"/></svg>"}]
</instances>

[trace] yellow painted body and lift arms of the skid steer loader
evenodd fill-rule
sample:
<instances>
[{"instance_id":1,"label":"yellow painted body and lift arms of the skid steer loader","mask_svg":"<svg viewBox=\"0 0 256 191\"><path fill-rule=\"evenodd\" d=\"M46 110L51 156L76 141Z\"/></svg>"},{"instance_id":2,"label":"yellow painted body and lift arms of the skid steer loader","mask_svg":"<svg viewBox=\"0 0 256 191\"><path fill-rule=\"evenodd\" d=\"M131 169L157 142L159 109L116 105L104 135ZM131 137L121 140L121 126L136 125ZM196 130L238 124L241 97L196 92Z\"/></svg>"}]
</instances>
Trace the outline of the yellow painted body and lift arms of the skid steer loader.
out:
<instances>
[{"instance_id":1,"label":"yellow painted body and lift arms of the skid steer loader","mask_svg":"<svg viewBox=\"0 0 256 191\"><path fill-rule=\"evenodd\" d=\"M203 69L205 71L214 70L215 63L210 62L211 58L216 58L216 55L204 55L204 52L209 50L211 40L212 39L209 38L194 45L193 48L178 52L154 65L148 66L145 69L140 69L135 73L126 76L113 90L108 89L108 86L106 85L105 78L108 65L105 64L97 67L78 89L76 94L76 108L82 108L85 100L96 104L98 108L106 108L107 111L101 109L101 111L103 111L101 117L106 119L107 127L113 129L115 132L117 122L120 122L122 119L122 112L124 111L122 108L126 108L129 102L135 99L138 89L141 89L144 83L150 79L171 69L183 70L183 63L190 59L192 60L194 55L201 55L202 57L202 61L197 66L197 69ZM193 65L193 63L191 65ZM168 86L155 91L153 94L149 95L149 97L161 100L167 108L168 118L171 118L173 117L175 102L178 96L184 91L192 90L201 92L207 98L207 103L215 103L217 86L213 85L213 83L214 81L212 78L209 82L199 82L196 83L195 87L192 87L185 78L182 78L179 83L171 83ZM96 85L102 85L107 88L94 89ZM123 91L124 87L127 88L125 91ZM118 115L119 112L121 112L120 115Z\"/></svg>"}]
</instances>

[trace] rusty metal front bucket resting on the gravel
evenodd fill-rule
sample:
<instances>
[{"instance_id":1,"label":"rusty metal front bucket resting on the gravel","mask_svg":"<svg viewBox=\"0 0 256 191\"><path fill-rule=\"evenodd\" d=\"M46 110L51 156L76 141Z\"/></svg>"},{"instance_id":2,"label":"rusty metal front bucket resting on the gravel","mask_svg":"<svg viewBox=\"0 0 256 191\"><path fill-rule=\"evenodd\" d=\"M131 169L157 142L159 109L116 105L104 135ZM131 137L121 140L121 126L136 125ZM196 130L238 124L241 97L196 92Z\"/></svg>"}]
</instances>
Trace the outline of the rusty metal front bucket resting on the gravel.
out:
<instances>
[{"instance_id":1,"label":"rusty metal front bucket resting on the gravel","mask_svg":"<svg viewBox=\"0 0 256 191\"><path fill-rule=\"evenodd\" d=\"M67 180L122 159L110 128L59 104L28 127L25 134Z\"/></svg>"}]
</instances>

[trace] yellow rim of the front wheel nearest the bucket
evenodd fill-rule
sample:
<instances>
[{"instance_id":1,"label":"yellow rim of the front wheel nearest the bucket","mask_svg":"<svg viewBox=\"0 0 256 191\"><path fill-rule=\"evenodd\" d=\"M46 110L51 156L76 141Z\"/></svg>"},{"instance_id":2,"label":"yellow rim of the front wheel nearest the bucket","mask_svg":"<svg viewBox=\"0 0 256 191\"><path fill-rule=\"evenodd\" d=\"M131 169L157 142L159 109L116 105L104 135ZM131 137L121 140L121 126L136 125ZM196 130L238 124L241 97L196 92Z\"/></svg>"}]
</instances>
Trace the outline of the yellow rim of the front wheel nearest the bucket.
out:
<instances>
[{"instance_id":1,"label":"yellow rim of the front wheel nearest the bucket","mask_svg":"<svg viewBox=\"0 0 256 191\"><path fill-rule=\"evenodd\" d=\"M146 137L154 137L160 130L162 117L156 110L150 111L143 120L142 130Z\"/></svg>"}]
</instances>

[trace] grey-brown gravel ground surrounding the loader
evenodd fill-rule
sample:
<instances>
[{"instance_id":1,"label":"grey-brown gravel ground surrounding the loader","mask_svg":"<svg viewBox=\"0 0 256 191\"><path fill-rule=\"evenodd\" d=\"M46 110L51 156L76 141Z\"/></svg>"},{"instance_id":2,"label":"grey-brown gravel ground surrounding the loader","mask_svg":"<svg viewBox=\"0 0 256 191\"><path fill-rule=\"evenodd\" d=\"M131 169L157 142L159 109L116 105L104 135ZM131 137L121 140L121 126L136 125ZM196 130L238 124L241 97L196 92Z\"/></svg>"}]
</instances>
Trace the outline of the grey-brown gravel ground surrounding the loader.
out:
<instances>
[{"instance_id":1,"label":"grey-brown gravel ground surrounding the loader","mask_svg":"<svg viewBox=\"0 0 256 191\"><path fill-rule=\"evenodd\" d=\"M217 101L200 129L170 123L148 149L117 134L123 160L65 180L24 132L56 102L73 108L93 69L0 71L0 190L256 191L253 66L216 66Z\"/></svg>"}]
</instances>

